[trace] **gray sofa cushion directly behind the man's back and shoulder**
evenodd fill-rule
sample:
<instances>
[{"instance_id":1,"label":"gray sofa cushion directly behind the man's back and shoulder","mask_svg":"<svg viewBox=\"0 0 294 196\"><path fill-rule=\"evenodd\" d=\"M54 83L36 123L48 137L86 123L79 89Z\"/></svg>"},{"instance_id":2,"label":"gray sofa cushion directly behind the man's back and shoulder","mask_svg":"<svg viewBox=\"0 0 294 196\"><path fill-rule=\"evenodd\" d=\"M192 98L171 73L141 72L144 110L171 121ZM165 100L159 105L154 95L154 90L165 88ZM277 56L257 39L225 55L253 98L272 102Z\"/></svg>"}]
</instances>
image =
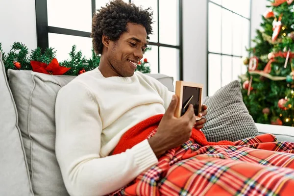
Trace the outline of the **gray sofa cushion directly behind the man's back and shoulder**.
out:
<instances>
[{"instance_id":1,"label":"gray sofa cushion directly behind the man's back and shoulder","mask_svg":"<svg viewBox=\"0 0 294 196\"><path fill-rule=\"evenodd\" d=\"M8 70L35 196L68 196L55 156L55 99L74 76Z\"/></svg>"}]
</instances>

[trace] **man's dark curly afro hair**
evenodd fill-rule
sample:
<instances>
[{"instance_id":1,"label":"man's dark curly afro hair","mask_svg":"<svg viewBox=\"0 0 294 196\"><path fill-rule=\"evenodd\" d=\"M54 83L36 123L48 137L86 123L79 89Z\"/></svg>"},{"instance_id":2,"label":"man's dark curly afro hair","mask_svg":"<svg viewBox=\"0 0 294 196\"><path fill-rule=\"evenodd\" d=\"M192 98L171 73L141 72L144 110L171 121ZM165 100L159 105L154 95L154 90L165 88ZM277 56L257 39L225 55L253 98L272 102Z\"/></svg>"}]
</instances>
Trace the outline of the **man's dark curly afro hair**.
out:
<instances>
[{"instance_id":1,"label":"man's dark curly afro hair","mask_svg":"<svg viewBox=\"0 0 294 196\"><path fill-rule=\"evenodd\" d=\"M93 47L97 54L102 53L102 35L109 37L111 41L119 40L123 32L127 32L126 24L133 23L143 25L147 35L152 33L151 8L142 9L133 3L125 3L123 0L114 0L101 7L93 17L92 34ZM149 37L147 36L147 39Z\"/></svg>"}]
</instances>

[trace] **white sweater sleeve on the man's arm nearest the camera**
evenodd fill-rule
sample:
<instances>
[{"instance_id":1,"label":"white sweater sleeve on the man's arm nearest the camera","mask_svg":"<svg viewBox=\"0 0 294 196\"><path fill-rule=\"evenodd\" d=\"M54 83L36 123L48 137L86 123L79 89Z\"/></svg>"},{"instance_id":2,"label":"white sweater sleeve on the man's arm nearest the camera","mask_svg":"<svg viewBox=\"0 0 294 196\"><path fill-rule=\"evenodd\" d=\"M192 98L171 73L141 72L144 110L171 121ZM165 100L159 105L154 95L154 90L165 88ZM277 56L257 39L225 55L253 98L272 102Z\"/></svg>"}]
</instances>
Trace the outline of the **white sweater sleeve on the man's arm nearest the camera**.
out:
<instances>
[{"instance_id":1,"label":"white sweater sleeve on the man's arm nearest the camera","mask_svg":"<svg viewBox=\"0 0 294 196\"><path fill-rule=\"evenodd\" d=\"M100 196L128 184L158 160L147 140L121 154L100 157L102 122L97 99L71 82L57 95L55 151L71 196Z\"/></svg>"}]
</instances>

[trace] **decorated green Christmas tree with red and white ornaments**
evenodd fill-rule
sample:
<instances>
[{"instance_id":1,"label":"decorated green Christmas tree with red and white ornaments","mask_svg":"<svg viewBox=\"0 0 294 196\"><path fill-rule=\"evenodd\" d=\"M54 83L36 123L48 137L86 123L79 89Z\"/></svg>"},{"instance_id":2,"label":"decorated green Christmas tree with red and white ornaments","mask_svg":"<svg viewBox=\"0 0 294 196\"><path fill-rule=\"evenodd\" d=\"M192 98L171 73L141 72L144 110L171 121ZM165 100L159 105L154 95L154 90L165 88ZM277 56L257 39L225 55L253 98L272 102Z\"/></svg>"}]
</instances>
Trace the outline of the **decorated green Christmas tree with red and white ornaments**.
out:
<instances>
[{"instance_id":1,"label":"decorated green Christmas tree with red and white ornaments","mask_svg":"<svg viewBox=\"0 0 294 196\"><path fill-rule=\"evenodd\" d=\"M245 105L256 123L294 126L294 0L268 0L244 60Z\"/></svg>"}]
</instances>

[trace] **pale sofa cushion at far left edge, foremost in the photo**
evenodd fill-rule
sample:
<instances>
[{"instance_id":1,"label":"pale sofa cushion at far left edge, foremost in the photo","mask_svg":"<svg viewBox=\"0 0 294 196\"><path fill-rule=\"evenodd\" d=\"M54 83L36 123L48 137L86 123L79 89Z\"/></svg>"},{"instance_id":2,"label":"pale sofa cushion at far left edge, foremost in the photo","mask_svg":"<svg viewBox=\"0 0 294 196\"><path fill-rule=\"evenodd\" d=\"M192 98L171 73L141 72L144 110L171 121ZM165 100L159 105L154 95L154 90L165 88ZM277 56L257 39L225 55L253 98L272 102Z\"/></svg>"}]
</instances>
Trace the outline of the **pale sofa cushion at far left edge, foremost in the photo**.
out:
<instances>
[{"instance_id":1,"label":"pale sofa cushion at far left edge, foremost in the photo","mask_svg":"<svg viewBox=\"0 0 294 196\"><path fill-rule=\"evenodd\" d=\"M0 52L0 196L33 196L16 106Z\"/></svg>"}]
</instances>

